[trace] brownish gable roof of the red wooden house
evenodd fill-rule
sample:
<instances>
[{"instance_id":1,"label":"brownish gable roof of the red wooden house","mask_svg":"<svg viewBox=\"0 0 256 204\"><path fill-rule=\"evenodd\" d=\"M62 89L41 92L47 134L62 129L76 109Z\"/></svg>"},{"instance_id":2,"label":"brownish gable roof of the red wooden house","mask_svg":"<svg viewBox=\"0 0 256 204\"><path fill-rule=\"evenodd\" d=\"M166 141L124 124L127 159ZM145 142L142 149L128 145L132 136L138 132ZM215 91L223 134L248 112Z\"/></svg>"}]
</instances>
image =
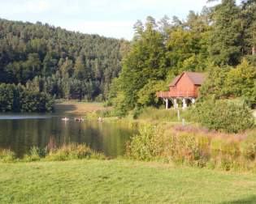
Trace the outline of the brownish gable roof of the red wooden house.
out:
<instances>
[{"instance_id":1,"label":"brownish gable roof of the red wooden house","mask_svg":"<svg viewBox=\"0 0 256 204\"><path fill-rule=\"evenodd\" d=\"M176 78L172 80L172 82L169 84L169 87L176 86L176 83L180 80L180 78L184 74L188 75L189 79L192 81L194 85L202 85L202 83L206 79L206 76L203 73L184 71L182 74L180 74L179 76L176 76Z\"/></svg>"}]
</instances>

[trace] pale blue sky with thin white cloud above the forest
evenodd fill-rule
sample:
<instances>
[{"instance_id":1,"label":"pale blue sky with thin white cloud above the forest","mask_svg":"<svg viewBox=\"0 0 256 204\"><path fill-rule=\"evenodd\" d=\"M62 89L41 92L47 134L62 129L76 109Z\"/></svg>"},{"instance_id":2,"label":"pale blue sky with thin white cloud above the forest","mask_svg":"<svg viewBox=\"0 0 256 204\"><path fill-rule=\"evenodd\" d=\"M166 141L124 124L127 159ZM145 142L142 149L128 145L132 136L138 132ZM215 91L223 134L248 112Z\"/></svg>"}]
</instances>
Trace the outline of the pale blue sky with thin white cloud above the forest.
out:
<instances>
[{"instance_id":1,"label":"pale blue sky with thin white cloud above the forest","mask_svg":"<svg viewBox=\"0 0 256 204\"><path fill-rule=\"evenodd\" d=\"M151 15L185 19L202 11L206 0L0 0L0 18L131 40L133 24ZM209 4L208 4L209 5Z\"/></svg>"}]
</instances>

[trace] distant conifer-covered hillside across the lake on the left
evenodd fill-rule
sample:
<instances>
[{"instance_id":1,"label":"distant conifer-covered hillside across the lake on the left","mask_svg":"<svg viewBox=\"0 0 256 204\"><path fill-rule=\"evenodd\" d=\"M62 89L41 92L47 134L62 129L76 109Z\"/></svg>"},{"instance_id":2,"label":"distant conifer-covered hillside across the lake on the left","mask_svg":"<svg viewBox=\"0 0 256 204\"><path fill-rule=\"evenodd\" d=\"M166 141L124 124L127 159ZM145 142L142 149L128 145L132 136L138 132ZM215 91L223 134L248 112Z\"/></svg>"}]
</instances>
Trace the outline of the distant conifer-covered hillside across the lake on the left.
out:
<instances>
[{"instance_id":1,"label":"distant conifer-covered hillside across the lake on the left","mask_svg":"<svg viewBox=\"0 0 256 204\"><path fill-rule=\"evenodd\" d=\"M127 46L125 40L0 19L0 83L56 98L104 100Z\"/></svg>"}]
</instances>

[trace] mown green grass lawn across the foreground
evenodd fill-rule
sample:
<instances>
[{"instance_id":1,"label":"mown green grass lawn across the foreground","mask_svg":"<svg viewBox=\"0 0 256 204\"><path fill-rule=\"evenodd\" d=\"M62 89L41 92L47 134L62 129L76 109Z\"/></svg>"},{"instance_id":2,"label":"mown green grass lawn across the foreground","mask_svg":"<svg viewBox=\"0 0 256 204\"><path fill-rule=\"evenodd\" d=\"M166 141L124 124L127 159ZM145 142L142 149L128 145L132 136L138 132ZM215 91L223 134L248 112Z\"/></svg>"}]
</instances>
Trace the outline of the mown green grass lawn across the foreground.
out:
<instances>
[{"instance_id":1,"label":"mown green grass lawn across the foreground","mask_svg":"<svg viewBox=\"0 0 256 204\"><path fill-rule=\"evenodd\" d=\"M0 203L254 203L254 174L124 160L0 164Z\"/></svg>"}]
</instances>

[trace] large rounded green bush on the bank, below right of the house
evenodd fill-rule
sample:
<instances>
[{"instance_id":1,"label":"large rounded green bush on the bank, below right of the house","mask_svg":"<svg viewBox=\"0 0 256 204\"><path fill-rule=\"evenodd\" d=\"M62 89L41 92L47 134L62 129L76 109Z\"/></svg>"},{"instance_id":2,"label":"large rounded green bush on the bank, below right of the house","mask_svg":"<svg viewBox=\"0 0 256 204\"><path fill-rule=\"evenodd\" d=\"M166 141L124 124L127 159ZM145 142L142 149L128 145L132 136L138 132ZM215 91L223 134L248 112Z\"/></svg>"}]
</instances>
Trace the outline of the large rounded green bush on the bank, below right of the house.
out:
<instances>
[{"instance_id":1,"label":"large rounded green bush on the bank, below right of the house","mask_svg":"<svg viewBox=\"0 0 256 204\"><path fill-rule=\"evenodd\" d=\"M238 133L254 125L254 117L245 104L228 100L206 100L194 109L195 120L209 130Z\"/></svg>"}]
</instances>

